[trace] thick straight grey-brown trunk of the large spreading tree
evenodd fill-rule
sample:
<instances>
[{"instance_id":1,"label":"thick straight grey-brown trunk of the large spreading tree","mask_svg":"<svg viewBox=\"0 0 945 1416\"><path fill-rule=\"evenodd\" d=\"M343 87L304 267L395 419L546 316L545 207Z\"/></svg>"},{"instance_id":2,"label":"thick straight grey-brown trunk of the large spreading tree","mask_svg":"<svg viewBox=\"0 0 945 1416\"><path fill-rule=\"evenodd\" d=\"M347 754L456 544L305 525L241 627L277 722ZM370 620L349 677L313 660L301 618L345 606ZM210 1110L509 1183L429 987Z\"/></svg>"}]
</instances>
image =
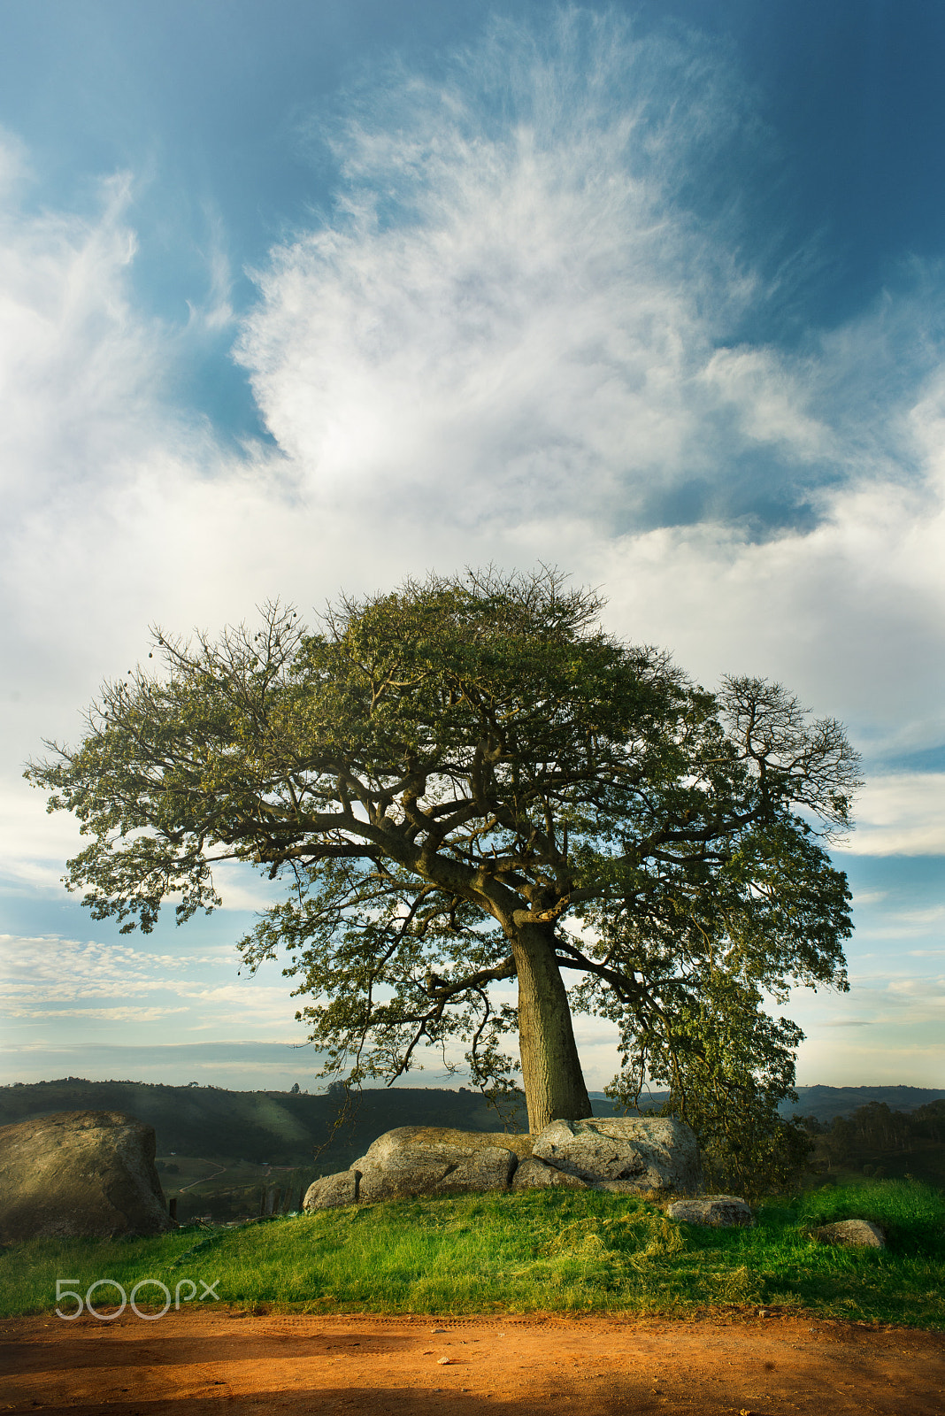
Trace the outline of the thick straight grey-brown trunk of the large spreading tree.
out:
<instances>
[{"instance_id":1,"label":"thick straight grey-brown trunk of the large spreading tree","mask_svg":"<svg viewBox=\"0 0 945 1416\"><path fill-rule=\"evenodd\" d=\"M521 925L512 939L518 971L522 1080L532 1136L549 1121L593 1116L574 1044L572 1010L549 926Z\"/></svg>"}]
</instances>

